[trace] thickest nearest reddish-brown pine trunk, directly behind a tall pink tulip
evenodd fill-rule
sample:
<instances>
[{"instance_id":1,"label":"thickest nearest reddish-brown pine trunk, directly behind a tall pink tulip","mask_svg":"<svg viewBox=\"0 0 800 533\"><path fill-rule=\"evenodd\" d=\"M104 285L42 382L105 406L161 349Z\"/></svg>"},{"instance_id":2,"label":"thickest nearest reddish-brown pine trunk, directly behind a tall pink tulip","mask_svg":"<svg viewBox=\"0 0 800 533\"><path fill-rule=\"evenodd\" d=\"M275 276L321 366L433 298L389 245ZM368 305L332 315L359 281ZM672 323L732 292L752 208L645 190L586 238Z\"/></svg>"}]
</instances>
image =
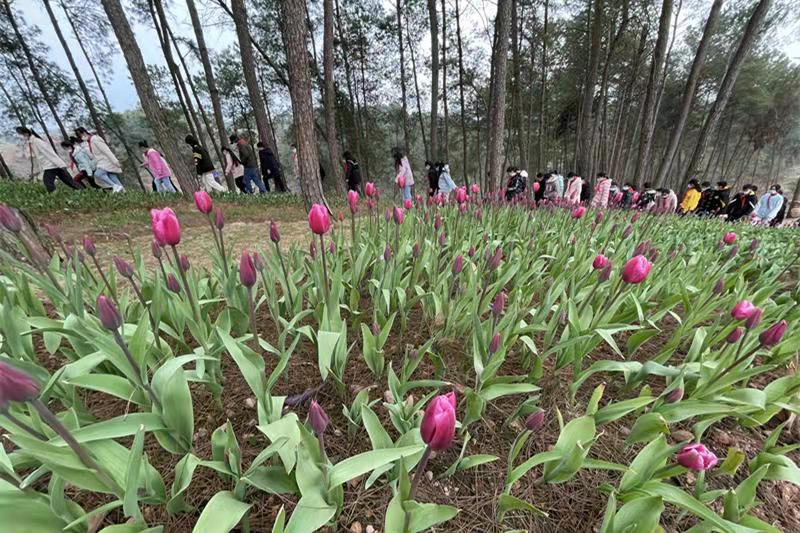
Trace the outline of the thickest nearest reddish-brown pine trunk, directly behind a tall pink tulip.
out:
<instances>
[{"instance_id":1,"label":"thickest nearest reddish-brown pine trunk, directly behind a tall pink tulip","mask_svg":"<svg viewBox=\"0 0 800 533\"><path fill-rule=\"evenodd\" d=\"M235 0L243 3L243 0ZM289 96L297 139L297 162L300 188L306 207L327 205L319 178L319 151L314 129L314 106L311 101L311 77L306 48L305 0L283 0L283 39L289 65ZM242 8L244 6L241 6ZM259 98L260 100L260 98Z\"/></svg>"}]
</instances>

